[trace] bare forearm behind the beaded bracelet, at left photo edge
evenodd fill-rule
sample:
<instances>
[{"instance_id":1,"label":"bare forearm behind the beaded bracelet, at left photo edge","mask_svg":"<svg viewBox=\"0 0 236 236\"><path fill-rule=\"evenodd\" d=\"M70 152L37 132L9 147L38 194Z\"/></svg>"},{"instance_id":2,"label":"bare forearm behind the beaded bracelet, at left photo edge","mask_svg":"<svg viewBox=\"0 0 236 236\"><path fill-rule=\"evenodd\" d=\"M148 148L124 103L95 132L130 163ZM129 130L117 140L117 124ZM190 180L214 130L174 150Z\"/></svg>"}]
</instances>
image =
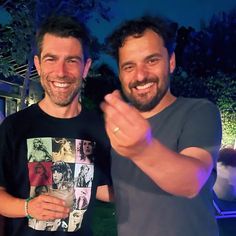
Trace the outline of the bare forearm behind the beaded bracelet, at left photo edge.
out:
<instances>
[{"instance_id":1,"label":"bare forearm behind the beaded bracelet, at left photo edge","mask_svg":"<svg viewBox=\"0 0 236 236\"><path fill-rule=\"evenodd\" d=\"M15 198L0 188L0 214L6 217L25 217L25 199Z\"/></svg>"}]
</instances>

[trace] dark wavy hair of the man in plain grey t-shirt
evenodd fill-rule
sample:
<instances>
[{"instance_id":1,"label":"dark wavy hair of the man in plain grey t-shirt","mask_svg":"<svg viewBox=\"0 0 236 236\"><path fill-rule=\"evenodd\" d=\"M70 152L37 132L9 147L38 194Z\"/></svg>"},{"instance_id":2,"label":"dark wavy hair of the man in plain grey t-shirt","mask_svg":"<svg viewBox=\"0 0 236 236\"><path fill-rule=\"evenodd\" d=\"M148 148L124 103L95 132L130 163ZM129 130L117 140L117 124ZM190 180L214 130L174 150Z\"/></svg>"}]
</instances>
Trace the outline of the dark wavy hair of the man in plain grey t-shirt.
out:
<instances>
[{"instance_id":1,"label":"dark wavy hair of the man in plain grey t-shirt","mask_svg":"<svg viewBox=\"0 0 236 236\"><path fill-rule=\"evenodd\" d=\"M175 50L177 28L177 23L159 16L143 16L125 21L105 39L107 52L118 61L118 50L123 46L127 37L140 37L145 30L151 29L163 39L164 46L167 48L168 54L171 55Z\"/></svg>"}]
</instances>

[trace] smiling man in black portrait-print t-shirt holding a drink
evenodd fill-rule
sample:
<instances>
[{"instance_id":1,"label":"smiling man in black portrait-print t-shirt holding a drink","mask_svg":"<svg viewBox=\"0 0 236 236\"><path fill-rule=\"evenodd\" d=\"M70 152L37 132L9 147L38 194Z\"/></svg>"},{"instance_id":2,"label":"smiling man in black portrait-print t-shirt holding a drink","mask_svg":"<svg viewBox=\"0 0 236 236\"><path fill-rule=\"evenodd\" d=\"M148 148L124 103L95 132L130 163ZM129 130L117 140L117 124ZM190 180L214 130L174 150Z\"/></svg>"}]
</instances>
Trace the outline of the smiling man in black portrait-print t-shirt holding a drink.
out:
<instances>
[{"instance_id":1,"label":"smiling man in black portrait-print t-shirt holding a drink","mask_svg":"<svg viewBox=\"0 0 236 236\"><path fill-rule=\"evenodd\" d=\"M91 236L91 210L96 193L99 196L100 188L110 183L104 165L109 161L110 148L102 117L82 109L79 102L81 84L91 65L90 38L86 28L76 19L53 16L43 23L36 41L38 52L34 62L45 96L39 103L7 117L0 126L0 215L7 217L5 235ZM30 158L32 145L29 144L39 138L47 143L50 160L37 162L38 156L36 161ZM66 206L67 199L64 201L48 193L35 196L31 191L40 185L40 179L29 178L30 168L37 163L47 165L47 187L53 184L53 167L57 164L52 155L55 139L68 139L73 145L79 143L78 140L89 140L96 146L91 154L94 162L89 163L94 165L93 183L87 188L90 197L80 227L44 227L47 222L54 226L62 221L74 224L69 222L73 209ZM71 159L66 164L71 168L71 182L74 183L75 169L80 163L76 153ZM39 222L41 228L33 221Z\"/></svg>"}]
</instances>

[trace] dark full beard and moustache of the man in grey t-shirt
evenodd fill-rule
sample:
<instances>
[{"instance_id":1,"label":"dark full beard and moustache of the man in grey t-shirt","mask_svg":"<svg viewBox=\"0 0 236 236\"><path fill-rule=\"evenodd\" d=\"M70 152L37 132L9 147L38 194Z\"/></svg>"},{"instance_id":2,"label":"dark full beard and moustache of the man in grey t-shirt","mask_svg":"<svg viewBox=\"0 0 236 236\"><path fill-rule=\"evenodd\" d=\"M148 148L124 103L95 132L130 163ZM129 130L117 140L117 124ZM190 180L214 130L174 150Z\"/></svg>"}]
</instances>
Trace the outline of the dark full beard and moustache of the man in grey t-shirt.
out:
<instances>
[{"instance_id":1,"label":"dark full beard and moustache of the man in grey t-shirt","mask_svg":"<svg viewBox=\"0 0 236 236\"><path fill-rule=\"evenodd\" d=\"M140 112L151 111L160 103L169 88L168 77L165 80L166 82L163 83L162 87L158 87L159 81L160 79L157 76L152 78L145 78L143 81L135 81L129 85L131 93L128 93L122 86L121 96L127 103L133 105ZM156 87L158 88L151 98L148 97L147 93L139 94L138 97L132 94L132 89L135 89L135 87L142 86L147 83L156 83Z\"/></svg>"}]
</instances>

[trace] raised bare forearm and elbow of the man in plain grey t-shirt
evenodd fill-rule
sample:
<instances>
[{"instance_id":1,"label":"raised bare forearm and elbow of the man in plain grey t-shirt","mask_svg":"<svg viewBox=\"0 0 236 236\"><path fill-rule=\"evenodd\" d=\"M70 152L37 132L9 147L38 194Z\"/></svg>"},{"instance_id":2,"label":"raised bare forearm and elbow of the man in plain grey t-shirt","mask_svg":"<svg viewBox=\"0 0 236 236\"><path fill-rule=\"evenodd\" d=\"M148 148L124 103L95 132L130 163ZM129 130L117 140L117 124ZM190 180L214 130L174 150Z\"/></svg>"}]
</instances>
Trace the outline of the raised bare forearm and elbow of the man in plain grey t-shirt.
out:
<instances>
[{"instance_id":1,"label":"raised bare forearm and elbow of the man in plain grey t-shirt","mask_svg":"<svg viewBox=\"0 0 236 236\"><path fill-rule=\"evenodd\" d=\"M131 159L160 188L183 197L194 197L212 169L212 160L206 151L191 148L191 152L189 149L179 154L155 139Z\"/></svg>"}]
</instances>

